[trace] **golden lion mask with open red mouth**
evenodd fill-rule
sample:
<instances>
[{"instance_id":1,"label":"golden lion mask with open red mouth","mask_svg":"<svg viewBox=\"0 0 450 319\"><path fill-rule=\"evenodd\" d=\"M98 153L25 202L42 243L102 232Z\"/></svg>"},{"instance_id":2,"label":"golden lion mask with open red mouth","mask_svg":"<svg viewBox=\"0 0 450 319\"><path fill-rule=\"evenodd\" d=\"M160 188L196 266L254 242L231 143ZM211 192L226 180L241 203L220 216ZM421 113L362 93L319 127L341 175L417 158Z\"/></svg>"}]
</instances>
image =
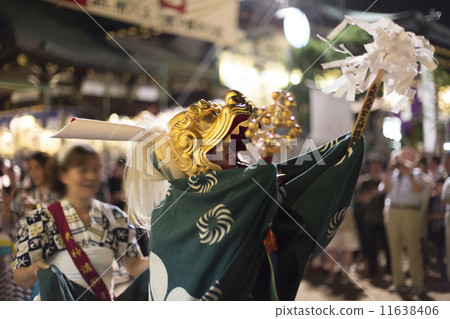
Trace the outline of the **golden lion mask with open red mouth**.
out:
<instances>
[{"instance_id":1,"label":"golden lion mask with open red mouth","mask_svg":"<svg viewBox=\"0 0 450 319\"><path fill-rule=\"evenodd\" d=\"M206 155L231 135L244 137L240 127L247 127L253 114L253 103L235 90L226 94L224 106L200 100L170 120L169 139L154 151L156 159L163 159L169 148L171 160L186 176L221 170Z\"/></svg>"}]
</instances>

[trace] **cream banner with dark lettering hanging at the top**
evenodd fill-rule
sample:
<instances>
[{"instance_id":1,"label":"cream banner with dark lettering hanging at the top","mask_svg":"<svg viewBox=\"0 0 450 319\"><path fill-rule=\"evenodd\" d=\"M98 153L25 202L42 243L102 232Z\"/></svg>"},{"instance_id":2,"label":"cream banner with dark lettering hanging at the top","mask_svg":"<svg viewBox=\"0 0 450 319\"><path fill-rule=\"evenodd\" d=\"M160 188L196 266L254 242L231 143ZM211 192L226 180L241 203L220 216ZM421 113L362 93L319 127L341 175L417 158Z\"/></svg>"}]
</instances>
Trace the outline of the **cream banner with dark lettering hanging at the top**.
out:
<instances>
[{"instance_id":1,"label":"cream banner with dark lettering hanging at the top","mask_svg":"<svg viewBox=\"0 0 450 319\"><path fill-rule=\"evenodd\" d=\"M225 45L236 43L238 0L48 0L164 33Z\"/></svg>"}]
</instances>

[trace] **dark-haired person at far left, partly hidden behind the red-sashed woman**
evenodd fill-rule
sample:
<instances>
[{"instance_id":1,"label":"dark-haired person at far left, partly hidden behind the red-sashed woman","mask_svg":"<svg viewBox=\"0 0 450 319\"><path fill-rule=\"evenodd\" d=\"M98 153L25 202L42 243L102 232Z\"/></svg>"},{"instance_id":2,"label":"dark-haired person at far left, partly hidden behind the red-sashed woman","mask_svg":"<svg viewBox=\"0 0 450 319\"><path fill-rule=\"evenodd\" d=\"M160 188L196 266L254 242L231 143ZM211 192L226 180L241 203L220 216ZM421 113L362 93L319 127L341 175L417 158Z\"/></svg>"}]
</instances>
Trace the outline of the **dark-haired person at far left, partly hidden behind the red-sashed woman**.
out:
<instances>
[{"instance_id":1,"label":"dark-haired person at far left, partly hidden behind the red-sashed woman","mask_svg":"<svg viewBox=\"0 0 450 319\"><path fill-rule=\"evenodd\" d=\"M32 186L29 189L13 187L5 197L3 207L3 223L10 229L10 236L15 239L19 229L26 223L25 215L37 207L53 203L56 193L48 187L46 165L50 156L44 152L35 152L27 159L28 172ZM16 183L17 184L17 183ZM10 270L10 267L8 267ZM12 272L10 277L12 278ZM28 300L31 290L24 290L12 281L10 289L13 291L13 300Z\"/></svg>"}]
</instances>

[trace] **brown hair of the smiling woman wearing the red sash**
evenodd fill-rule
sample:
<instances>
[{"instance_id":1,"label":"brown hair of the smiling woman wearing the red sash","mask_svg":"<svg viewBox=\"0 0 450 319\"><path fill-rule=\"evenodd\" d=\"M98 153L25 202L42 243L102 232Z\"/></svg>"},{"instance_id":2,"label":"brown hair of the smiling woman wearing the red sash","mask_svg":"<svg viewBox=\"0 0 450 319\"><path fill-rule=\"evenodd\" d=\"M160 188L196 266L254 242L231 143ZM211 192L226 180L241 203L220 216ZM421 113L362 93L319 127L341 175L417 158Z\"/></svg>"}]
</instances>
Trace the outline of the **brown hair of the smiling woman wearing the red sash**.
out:
<instances>
[{"instance_id":1,"label":"brown hair of the smiling woman wearing the red sash","mask_svg":"<svg viewBox=\"0 0 450 319\"><path fill-rule=\"evenodd\" d=\"M89 157L97 158L101 162L100 153L88 144L75 145L64 154L56 153L47 165L50 189L60 196L66 195L66 185L61 181L60 173L67 172L72 167L82 166Z\"/></svg>"}]
</instances>

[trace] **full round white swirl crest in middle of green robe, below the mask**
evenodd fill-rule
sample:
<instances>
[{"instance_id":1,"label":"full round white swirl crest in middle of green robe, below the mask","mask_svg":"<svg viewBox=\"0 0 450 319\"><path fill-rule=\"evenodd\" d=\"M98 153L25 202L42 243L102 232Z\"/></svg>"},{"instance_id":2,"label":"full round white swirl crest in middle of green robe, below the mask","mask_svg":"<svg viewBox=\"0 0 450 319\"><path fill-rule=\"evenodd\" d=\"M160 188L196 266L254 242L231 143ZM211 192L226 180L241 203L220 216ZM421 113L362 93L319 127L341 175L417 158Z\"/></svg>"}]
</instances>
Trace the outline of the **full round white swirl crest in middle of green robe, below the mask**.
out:
<instances>
[{"instance_id":1,"label":"full round white swirl crest in middle of green robe, below the mask","mask_svg":"<svg viewBox=\"0 0 450 319\"><path fill-rule=\"evenodd\" d=\"M231 212L224 204L209 210L196 223L200 230L200 242L209 245L219 243L230 231L233 221Z\"/></svg>"}]
</instances>

